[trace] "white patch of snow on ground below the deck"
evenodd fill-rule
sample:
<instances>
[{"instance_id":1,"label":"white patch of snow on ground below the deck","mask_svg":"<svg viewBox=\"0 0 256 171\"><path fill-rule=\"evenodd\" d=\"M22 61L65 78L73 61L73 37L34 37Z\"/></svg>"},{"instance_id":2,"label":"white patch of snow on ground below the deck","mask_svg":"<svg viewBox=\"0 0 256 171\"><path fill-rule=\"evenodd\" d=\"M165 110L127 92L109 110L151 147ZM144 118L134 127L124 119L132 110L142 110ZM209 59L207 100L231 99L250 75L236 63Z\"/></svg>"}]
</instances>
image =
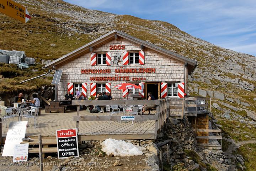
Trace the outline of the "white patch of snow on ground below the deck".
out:
<instances>
[{"instance_id":1,"label":"white patch of snow on ground below the deck","mask_svg":"<svg viewBox=\"0 0 256 171\"><path fill-rule=\"evenodd\" d=\"M142 155L142 151L138 146L133 145L132 143L127 143L123 140L115 140L108 138L101 143L101 150L104 151L107 155L111 153L114 156L134 156Z\"/></svg>"}]
</instances>

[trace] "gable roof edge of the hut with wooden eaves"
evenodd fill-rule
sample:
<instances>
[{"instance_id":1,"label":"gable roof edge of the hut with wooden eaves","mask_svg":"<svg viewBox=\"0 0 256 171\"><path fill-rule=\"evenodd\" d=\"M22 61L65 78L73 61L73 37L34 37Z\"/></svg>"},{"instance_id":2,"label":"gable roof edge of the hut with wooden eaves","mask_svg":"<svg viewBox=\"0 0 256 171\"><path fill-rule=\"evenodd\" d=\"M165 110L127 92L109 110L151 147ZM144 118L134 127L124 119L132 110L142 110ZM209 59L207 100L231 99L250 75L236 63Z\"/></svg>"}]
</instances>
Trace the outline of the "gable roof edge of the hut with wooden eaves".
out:
<instances>
[{"instance_id":1,"label":"gable roof edge of the hut with wooden eaves","mask_svg":"<svg viewBox=\"0 0 256 171\"><path fill-rule=\"evenodd\" d=\"M138 39L136 37L133 37L129 34L126 34L124 32L121 32L121 31L118 31L118 30L113 30L95 40L93 40L92 42L90 43L87 43L86 45L84 46L81 46L80 48L60 57L59 59L56 59L52 62L50 62L49 64L46 64L45 67L46 68L51 68L55 65L59 65L59 64L62 64L63 62L65 61L68 61L69 59L74 59L76 57L79 57L80 55L86 53L86 52L89 52L90 51L90 47L93 47L93 46L97 46L97 45L100 45L102 44L103 42L105 42L106 40L110 40L110 39L113 39L115 37L115 35L118 35L122 38L125 38L125 39L128 39L130 40L131 42L134 42L134 43L137 43L137 44L140 44L140 45L143 45L145 46L146 48L149 48L149 49L152 49L152 50L155 50L159 53L162 53L162 54L165 54L167 56L170 56L170 57L173 57L174 59L177 59L179 61L182 61L182 62L185 62L187 64L187 68L188 68L188 74L191 74L194 70L194 68L196 67L197 65L197 62L192 60L192 59L189 59L185 56L181 56L179 54L176 54L176 53L173 53L169 50L166 50L166 49L163 49L163 48L160 48L154 44L151 44L151 43L148 43L144 40L141 40L141 39Z\"/></svg>"}]
</instances>

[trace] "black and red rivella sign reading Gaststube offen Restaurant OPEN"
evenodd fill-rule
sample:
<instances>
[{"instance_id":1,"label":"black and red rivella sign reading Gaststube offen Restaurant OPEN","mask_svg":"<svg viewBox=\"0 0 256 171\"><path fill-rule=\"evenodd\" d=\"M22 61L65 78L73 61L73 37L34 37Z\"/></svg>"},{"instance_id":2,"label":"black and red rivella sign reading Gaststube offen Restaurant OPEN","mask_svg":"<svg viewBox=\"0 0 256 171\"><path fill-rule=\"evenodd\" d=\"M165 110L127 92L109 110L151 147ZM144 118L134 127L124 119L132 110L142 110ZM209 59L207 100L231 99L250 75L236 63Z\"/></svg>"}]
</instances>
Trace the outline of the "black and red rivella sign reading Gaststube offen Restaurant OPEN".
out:
<instances>
[{"instance_id":1,"label":"black and red rivella sign reading Gaststube offen Restaurant OPEN","mask_svg":"<svg viewBox=\"0 0 256 171\"><path fill-rule=\"evenodd\" d=\"M58 158L78 157L78 138L76 129L56 130Z\"/></svg>"}]
</instances>

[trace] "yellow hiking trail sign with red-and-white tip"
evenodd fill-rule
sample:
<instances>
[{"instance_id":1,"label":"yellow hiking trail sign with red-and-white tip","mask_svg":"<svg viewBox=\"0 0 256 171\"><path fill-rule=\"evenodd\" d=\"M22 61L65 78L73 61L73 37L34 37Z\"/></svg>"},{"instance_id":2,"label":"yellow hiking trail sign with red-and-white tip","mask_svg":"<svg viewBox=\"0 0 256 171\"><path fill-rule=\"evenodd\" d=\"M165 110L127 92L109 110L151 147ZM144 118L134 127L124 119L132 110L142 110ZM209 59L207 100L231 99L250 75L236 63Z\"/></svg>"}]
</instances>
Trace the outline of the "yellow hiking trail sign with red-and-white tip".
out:
<instances>
[{"instance_id":1,"label":"yellow hiking trail sign with red-and-white tip","mask_svg":"<svg viewBox=\"0 0 256 171\"><path fill-rule=\"evenodd\" d=\"M0 12L23 23L26 23L31 18L26 7L12 0L0 0Z\"/></svg>"}]
</instances>

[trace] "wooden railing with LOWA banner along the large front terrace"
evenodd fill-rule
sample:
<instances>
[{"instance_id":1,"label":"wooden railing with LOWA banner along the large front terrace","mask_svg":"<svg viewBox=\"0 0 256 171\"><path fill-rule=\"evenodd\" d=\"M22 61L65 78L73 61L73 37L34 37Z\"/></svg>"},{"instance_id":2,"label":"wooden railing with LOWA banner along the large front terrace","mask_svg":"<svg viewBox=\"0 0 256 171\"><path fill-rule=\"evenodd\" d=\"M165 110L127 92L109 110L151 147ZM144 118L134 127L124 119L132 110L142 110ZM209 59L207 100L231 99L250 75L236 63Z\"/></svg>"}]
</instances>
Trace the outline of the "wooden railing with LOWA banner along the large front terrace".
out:
<instances>
[{"instance_id":1,"label":"wooden railing with LOWA banner along the large front terrace","mask_svg":"<svg viewBox=\"0 0 256 171\"><path fill-rule=\"evenodd\" d=\"M77 115L74 116L76 128L79 130L79 122L81 121L121 121L121 116L80 116L80 105L85 106L104 106L104 105L156 105L155 115L135 115L134 121L155 120L155 139L158 132L161 132L162 127L169 117L169 99L162 100L72 100L72 105L77 106ZM100 116L101 115L101 116Z\"/></svg>"}]
</instances>

